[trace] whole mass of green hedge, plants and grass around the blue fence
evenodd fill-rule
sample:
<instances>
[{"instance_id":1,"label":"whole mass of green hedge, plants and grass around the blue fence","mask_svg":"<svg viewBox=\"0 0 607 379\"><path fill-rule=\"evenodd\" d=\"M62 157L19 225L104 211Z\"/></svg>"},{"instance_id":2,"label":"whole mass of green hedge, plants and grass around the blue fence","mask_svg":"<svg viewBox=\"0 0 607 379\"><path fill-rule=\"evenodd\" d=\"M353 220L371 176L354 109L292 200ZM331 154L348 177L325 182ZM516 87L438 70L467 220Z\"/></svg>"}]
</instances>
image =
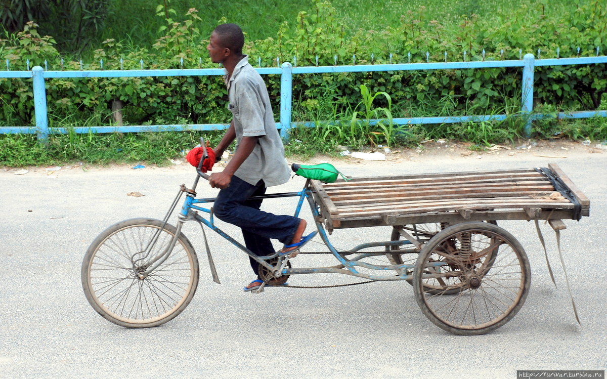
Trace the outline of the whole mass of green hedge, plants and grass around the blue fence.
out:
<instances>
[{"instance_id":1,"label":"whole mass of green hedge, plants and grass around the blue fence","mask_svg":"<svg viewBox=\"0 0 607 379\"><path fill-rule=\"evenodd\" d=\"M315 65L316 56L318 64L333 65L336 60L351 64L353 55L357 64L364 64L387 63L390 53L393 62L404 63L426 61L426 52L430 61L443 61L445 53L448 60L459 61L464 52L466 60L481 60L483 50L485 60L518 59L520 50L537 55L540 49L541 58L555 57L557 49L561 57L577 55L577 47L581 56L595 55L597 46L602 53L607 50L607 5L599 0L554 0L549 6L540 1L469 0L450 2L449 7L439 0L267 0L222 5L95 1L109 4L103 22L112 28L87 35L86 46L66 50L65 36L44 36L53 29L30 22L22 30L0 33L0 59L8 60L12 69L25 69L29 59L30 66L44 66L46 60L49 69L79 70L80 58L83 68L92 70L101 69L101 60L103 69L140 68L140 60L146 69L177 68L181 60L186 68L215 67L206 55L206 39L218 22L225 21L243 27L251 63L257 65L261 58L262 66L276 65L277 57L280 62L293 62L294 56L297 65L304 66ZM97 46L96 40L101 41ZM554 114L607 109L605 66L536 67L536 110ZM264 78L277 114L280 79ZM313 121L317 128L295 129L287 149L306 155L334 152L337 145L414 145L426 138L480 145L514 142L523 129L518 117L520 83L518 68L295 75L293 119ZM46 84L52 128L112 125L114 100L124 103L126 125L229 121L227 92L219 77L70 78ZM0 79L0 107L0 126L35 125L31 80ZM392 122L396 117L491 114L510 117L410 128ZM381 121L372 124L372 118ZM532 136L604 140L606 125L604 119L546 118L534 121ZM47 148L36 145L32 135L0 135L0 162L17 166L53 160L167 162L192 145L193 134L72 132L52 135ZM296 139L304 143L293 142ZM87 146L98 151L86 151ZM19 154L15 149L32 154L10 155Z\"/></svg>"}]
</instances>

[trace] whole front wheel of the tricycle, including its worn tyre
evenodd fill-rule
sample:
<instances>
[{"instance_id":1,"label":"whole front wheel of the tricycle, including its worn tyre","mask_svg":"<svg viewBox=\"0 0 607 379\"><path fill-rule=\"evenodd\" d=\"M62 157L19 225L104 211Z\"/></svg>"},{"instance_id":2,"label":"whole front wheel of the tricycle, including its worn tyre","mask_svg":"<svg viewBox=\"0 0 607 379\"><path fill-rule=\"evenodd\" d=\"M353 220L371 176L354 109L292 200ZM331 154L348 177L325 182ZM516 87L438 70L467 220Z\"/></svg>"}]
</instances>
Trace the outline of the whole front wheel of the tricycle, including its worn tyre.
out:
<instances>
[{"instance_id":1,"label":"whole front wheel of the tricycle, including its worn tyre","mask_svg":"<svg viewBox=\"0 0 607 379\"><path fill-rule=\"evenodd\" d=\"M180 233L169 258L148 276L177 228L155 219L130 219L107 228L90 244L81 271L84 295L108 321L124 327L154 327L175 318L192 301L198 258Z\"/></svg>"}]
</instances>

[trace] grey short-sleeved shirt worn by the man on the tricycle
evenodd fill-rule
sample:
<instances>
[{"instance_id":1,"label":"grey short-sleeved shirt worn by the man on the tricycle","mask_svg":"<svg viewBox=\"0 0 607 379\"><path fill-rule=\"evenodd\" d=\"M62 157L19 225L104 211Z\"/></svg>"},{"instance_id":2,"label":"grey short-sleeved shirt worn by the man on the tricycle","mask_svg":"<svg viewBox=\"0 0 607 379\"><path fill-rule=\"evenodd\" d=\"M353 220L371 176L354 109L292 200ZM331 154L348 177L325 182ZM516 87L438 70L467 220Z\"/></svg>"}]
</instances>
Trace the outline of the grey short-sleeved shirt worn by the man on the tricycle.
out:
<instances>
[{"instance_id":1,"label":"grey short-sleeved shirt worn by the man on the tricycle","mask_svg":"<svg viewBox=\"0 0 607 379\"><path fill-rule=\"evenodd\" d=\"M260 179L267 187L288 182L290 171L274 122L268 89L249 64L248 56L236 65L226 84L228 109L234 115L236 143L240 143L242 137L259 137L251 155L234 174L251 185L256 185Z\"/></svg>"}]
</instances>

